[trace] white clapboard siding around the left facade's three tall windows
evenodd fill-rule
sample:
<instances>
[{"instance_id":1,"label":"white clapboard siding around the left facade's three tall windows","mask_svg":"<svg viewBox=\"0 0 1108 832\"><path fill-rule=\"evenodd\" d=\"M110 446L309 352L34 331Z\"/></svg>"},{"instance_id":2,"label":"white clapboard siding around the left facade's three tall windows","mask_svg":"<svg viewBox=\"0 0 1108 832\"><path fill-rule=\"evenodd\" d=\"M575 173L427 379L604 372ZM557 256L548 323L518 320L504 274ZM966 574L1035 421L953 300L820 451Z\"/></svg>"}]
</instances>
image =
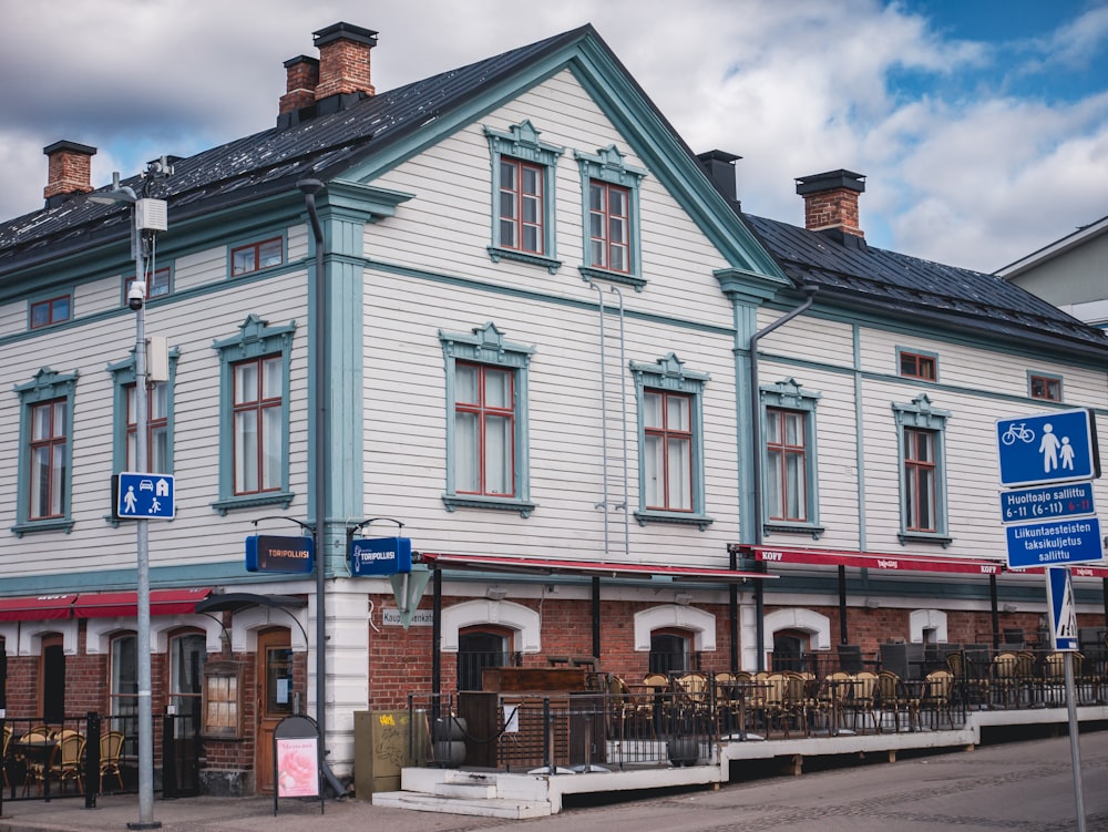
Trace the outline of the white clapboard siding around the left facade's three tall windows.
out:
<instances>
[{"instance_id":1,"label":"white clapboard siding around the left facade's three tall windows","mask_svg":"<svg viewBox=\"0 0 1108 832\"><path fill-rule=\"evenodd\" d=\"M249 521L271 511L235 512L219 517L211 503L218 499L219 386L218 355L214 340L235 336L253 311L278 326L298 321L291 356L290 428L300 438L291 446L290 487L299 505L291 516L306 516L307 460L302 441L307 432L307 328L304 273L258 285L229 286L199 298L167 299L147 307L146 331L165 336L179 351L174 386L174 475L177 516L172 523L151 523L151 565L197 565L242 558L243 541L256 533ZM134 530L105 521L111 512L112 435L115 414L110 363L123 361L134 346L134 316L59 330L35 340L33 350L8 350L0 368L0 384L29 381L40 367L79 372L72 430L71 534L60 545L54 534L9 535L0 544L0 571L6 576L47 571L114 569L134 566ZM4 424L19 424L17 397L0 404ZM18 459L18 429L4 431L0 452ZM14 505L16 466L0 473L0 500Z\"/></svg>"}]
</instances>

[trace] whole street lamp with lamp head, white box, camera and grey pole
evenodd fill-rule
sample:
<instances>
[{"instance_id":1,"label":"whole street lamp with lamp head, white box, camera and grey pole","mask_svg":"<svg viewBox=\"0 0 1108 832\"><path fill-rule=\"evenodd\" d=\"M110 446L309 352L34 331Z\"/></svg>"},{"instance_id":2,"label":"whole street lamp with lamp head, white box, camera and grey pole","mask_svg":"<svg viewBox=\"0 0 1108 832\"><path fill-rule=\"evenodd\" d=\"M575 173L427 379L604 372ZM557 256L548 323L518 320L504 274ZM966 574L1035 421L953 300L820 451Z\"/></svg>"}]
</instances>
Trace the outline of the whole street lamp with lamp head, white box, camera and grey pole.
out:
<instances>
[{"instance_id":1,"label":"whole street lamp with lamp head, white box, camera and grey pole","mask_svg":"<svg viewBox=\"0 0 1108 832\"><path fill-rule=\"evenodd\" d=\"M164 199L140 198L134 189L120 186L120 175L113 176L113 188L89 196L94 203L127 203L133 206L131 255L135 261L135 279L127 290L127 307L135 312L135 471L147 473L147 404L146 404L146 273L144 267L146 239L166 228ZM145 234L144 234L145 233ZM127 829L158 829L154 820L154 721L151 706L150 666L150 521L135 520L137 548L137 662L138 662L138 820Z\"/></svg>"}]
</instances>

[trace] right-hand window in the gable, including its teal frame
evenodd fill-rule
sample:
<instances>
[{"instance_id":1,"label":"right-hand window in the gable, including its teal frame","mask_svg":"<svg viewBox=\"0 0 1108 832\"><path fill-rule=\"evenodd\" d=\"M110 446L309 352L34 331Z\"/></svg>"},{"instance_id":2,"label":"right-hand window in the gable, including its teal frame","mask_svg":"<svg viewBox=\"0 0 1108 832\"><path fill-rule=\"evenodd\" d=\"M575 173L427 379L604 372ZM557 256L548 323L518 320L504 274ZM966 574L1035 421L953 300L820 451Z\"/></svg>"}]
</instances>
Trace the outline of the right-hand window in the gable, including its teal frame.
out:
<instances>
[{"instance_id":1,"label":"right-hand window in the gable, including its teal frame","mask_svg":"<svg viewBox=\"0 0 1108 832\"><path fill-rule=\"evenodd\" d=\"M602 147L596 155L578 152L576 156L585 196L581 273L640 290L646 281L642 275L638 191L646 172L626 164L615 145Z\"/></svg>"}]
</instances>

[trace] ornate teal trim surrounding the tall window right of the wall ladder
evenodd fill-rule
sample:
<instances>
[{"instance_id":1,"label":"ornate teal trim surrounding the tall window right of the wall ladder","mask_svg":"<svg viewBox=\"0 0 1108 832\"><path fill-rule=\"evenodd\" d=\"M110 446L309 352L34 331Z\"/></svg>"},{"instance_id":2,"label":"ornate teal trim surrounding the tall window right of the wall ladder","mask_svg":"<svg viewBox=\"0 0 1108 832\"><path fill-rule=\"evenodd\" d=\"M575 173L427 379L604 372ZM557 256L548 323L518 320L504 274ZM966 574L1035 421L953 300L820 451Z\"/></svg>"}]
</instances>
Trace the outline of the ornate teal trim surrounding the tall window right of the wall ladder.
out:
<instances>
[{"instance_id":1,"label":"ornate teal trim surrounding the tall window right of the wall ladder","mask_svg":"<svg viewBox=\"0 0 1108 832\"><path fill-rule=\"evenodd\" d=\"M674 523L695 525L701 532L712 523L712 517L705 511L704 484L704 390L711 378L706 372L694 372L685 369L684 362L673 352L659 358L654 363L630 362L630 372L635 381L635 404L637 411L638 435L638 509L635 520L645 526L647 523ZM691 474L693 474L693 510L689 512L658 511L646 505L646 465L643 460L646 454L646 420L645 394L652 391L683 393L691 402L690 422L691 438Z\"/></svg>"}]
</instances>

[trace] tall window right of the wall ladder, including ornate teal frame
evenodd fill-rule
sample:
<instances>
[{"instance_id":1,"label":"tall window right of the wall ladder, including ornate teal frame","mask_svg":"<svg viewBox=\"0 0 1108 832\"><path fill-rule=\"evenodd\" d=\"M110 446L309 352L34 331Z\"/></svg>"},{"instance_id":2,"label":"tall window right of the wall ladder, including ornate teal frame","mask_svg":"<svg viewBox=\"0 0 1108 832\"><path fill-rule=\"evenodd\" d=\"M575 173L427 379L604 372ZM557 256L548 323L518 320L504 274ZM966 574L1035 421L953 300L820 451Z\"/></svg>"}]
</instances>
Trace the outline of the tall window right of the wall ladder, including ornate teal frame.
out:
<instances>
[{"instance_id":1,"label":"tall window right of the wall ladder, including ornate teal frame","mask_svg":"<svg viewBox=\"0 0 1108 832\"><path fill-rule=\"evenodd\" d=\"M708 376L686 370L670 352L656 363L632 362L638 400L639 523L668 521L707 527L702 397Z\"/></svg>"}]
</instances>

